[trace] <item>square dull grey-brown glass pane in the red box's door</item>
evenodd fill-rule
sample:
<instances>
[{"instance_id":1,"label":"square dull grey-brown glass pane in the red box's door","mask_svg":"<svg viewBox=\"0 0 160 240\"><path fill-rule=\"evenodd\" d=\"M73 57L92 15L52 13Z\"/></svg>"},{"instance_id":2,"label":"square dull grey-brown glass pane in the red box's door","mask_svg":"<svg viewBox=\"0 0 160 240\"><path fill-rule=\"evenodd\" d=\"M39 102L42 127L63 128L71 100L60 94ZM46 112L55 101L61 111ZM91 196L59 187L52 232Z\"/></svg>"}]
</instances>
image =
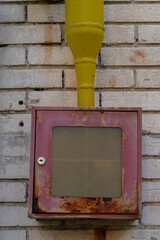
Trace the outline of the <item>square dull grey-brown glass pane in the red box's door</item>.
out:
<instances>
[{"instance_id":1,"label":"square dull grey-brown glass pane in the red box's door","mask_svg":"<svg viewBox=\"0 0 160 240\"><path fill-rule=\"evenodd\" d=\"M113 198L121 191L121 128L53 128L52 196Z\"/></svg>"}]
</instances>

